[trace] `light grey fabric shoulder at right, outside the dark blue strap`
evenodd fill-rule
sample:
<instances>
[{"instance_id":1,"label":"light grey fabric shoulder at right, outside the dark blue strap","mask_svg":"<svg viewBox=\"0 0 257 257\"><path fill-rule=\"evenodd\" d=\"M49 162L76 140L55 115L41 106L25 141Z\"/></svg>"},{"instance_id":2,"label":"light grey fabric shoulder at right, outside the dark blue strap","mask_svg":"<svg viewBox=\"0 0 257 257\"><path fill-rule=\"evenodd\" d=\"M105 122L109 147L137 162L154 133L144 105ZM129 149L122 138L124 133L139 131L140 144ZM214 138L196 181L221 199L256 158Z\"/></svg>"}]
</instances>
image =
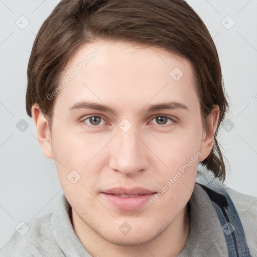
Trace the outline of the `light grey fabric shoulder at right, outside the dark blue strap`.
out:
<instances>
[{"instance_id":1,"label":"light grey fabric shoulder at right, outside the dark blue strap","mask_svg":"<svg viewBox=\"0 0 257 257\"><path fill-rule=\"evenodd\" d=\"M242 194L224 186L241 220L250 252L252 256L257 256L257 197Z\"/></svg>"}]
</instances>

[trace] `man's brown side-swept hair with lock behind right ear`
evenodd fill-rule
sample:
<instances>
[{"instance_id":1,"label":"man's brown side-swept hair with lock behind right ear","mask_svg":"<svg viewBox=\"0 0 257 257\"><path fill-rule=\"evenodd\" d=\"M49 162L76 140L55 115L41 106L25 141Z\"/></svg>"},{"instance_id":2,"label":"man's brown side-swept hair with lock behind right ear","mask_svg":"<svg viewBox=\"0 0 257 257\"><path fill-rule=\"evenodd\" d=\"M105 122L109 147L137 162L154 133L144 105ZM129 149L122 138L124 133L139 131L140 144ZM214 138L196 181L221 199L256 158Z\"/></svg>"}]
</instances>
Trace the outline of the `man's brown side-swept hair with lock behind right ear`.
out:
<instances>
[{"instance_id":1,"label":"man's brown side-swept hair with lock behind right ear","mask_svg":"<svg viewBox=\"0 0 257 257\"><path fill-rule=\"evenodd\" d=\"M216 135L228 108L218 53L200 17L183 0L63 0L40 28L28 64L26 110L37 103L51 127L60 75L79 46L96 40L119 40L161 47L189 60L195 70L203 127L213 105L219 106L214 147L201 162L225 179Z\"/></svg>"}]
</instances>

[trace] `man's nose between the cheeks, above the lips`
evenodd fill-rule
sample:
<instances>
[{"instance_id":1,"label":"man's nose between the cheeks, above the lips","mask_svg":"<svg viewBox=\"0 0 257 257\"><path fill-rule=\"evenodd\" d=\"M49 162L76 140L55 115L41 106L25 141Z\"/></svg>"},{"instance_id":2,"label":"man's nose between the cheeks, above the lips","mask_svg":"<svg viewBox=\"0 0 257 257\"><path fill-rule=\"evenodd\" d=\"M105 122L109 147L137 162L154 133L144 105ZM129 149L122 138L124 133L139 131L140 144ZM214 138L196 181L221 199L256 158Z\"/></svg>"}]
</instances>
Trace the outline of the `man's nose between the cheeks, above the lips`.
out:
<instances>
[{"instance_id":1,"label":"man's nose between the cheeks, above the lips","mask_svg":"<svg viewBox=\"0 0 257 257\"><path fill-rule=\"evenodd\" d=\"M133 176L148 169L150 151L143 142L144 138L133 126L127 132L118 128L117 135L110 145L110 169L126 176Z\"/></svg>"}]
</instances>

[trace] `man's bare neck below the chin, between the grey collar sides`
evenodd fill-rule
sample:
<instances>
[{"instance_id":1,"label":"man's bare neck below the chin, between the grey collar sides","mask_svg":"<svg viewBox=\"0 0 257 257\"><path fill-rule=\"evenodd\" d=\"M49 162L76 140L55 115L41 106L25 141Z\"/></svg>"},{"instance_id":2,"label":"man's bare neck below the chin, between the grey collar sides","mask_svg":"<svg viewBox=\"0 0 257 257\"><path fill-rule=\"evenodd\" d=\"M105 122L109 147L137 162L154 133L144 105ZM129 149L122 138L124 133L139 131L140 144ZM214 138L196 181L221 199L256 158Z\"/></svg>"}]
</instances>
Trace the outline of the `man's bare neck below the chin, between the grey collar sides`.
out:
<instances>
[{"instance_id":1,"label":"man's bare neck below the chin, between the grey collar sides","mask_svg":"<svg viewBox=\"0 0 257 257\"><path fill-rule=\"evenodd\" d=\"M190 230L188 207L186 205L172 224L153 240L133 246L117 245L105 240L92 230L73 209L71 213L74 231L85 249L92 256L98 256L95 254L98 252L101 257L176 257L183 250Z\"/></svg>"}]
</instances>

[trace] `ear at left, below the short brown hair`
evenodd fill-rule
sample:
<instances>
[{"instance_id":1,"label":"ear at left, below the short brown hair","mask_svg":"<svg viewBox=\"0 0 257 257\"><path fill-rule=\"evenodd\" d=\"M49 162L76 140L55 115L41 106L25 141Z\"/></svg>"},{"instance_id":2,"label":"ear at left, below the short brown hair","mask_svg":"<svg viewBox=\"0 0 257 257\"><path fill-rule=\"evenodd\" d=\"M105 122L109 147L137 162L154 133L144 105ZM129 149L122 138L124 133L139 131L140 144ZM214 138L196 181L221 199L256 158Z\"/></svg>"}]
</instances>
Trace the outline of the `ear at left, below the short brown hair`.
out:
<instances>
[{"instance_id":1,"label":"ear at left, below the short brown hair","mask_svg":"<svg viewBox=\"0 0 257 257\"><path fill-rule=\"evenodd\" d=\"M31 112L36 125L38 142L43 154L49 159L54 159L48 120L42 113L38 104L32 106Z\"/></svg>"}]
</instances>

